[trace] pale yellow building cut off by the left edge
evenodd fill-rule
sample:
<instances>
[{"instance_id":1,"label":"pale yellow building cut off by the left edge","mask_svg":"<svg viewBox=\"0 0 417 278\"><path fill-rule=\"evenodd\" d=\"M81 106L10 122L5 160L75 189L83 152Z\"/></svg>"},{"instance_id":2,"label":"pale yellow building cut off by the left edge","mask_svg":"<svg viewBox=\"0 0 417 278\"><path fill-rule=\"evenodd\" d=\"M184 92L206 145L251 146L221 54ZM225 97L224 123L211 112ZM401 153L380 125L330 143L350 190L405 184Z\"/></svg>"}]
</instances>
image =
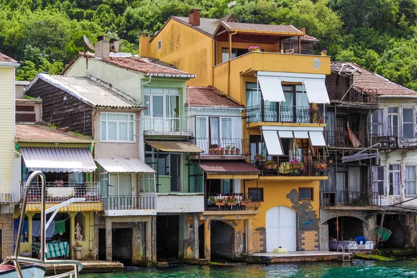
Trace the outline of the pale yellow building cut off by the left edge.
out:
<instances>
[{"instance_id":1,"label":"pale yellow building cut off by the left edge","mask_svg":"<svg viewBox=\"0 0 417 278\"><path fill-rule=\"evenodd\" d=\"M13 174L15 156L15 70L19 63L0 53L0 256L13 252L13 211L19 201L19 179Z\"/></svg>"}]
</instances>

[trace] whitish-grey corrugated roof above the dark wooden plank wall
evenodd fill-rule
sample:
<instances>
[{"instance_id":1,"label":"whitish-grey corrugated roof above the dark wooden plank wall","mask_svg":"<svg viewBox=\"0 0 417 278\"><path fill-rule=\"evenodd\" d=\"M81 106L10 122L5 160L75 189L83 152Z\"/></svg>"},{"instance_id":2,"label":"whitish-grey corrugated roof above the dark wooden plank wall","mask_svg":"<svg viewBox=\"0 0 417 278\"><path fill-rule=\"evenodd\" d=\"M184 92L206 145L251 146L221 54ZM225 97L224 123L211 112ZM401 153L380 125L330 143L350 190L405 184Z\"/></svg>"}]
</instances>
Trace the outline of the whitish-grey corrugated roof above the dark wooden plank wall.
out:
<instances>
[{"instance_id":1,"label":"whitish-grey corrugated roof above the dark wooden plank wall","mask_svg":"<svg viewBox=\"0 0 417 278\"><path fill-rule=\"evenodd\" d=\"M142 107L127 95L122 95L115 89L107 88L100 84L94 77L85 76L62 76L38 74L36 79L31 83L27 90L31 88L33 83L42 79L47 83L54 85L60 90L64 90L70 95L80 99L81 101L95 107L114 107L114 108L139 108Z\"/></svg>"}]
</instances>

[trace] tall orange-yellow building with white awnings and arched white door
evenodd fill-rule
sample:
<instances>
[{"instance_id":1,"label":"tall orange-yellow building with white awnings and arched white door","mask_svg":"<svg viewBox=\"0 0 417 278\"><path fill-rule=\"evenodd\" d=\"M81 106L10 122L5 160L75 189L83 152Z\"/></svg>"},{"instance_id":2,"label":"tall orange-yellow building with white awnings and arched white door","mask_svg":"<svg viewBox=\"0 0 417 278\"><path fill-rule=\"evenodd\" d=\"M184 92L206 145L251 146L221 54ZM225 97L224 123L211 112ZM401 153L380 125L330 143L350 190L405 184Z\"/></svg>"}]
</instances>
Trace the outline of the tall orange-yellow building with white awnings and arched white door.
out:
<instances>
[{"instance_id":1,"label":"tall orange-yellow building with white awnings and arched white door","mask_svg":"<svg viewBox=\"0 0 417 278\"><path fill-rule=\"evenodd\" d=\"M192 72L188 85L212 85L245 106L247 162L261 170L259 179L241 182L260 202L246 227L253 232L247 253L319 249L330 57L313 55L314 40L294 26L238 23L232 15L203 19L198 10L170 17L152 38L140 35L140 56ZM228 213L224 219L238 218Z\"/></svg>"}]
</instances>

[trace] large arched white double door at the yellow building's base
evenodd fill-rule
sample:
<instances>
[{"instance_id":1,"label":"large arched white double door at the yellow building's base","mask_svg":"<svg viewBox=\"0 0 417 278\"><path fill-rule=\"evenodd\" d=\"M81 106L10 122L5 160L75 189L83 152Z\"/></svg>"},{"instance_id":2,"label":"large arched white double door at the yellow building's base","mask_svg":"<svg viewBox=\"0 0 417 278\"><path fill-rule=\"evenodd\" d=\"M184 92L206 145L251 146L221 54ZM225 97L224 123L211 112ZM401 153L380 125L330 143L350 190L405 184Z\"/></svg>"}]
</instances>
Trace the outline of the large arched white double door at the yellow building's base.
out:
<instances>
[{"instance_id":1,"label":"large arched white double door at the yellow building's base","mask_svg":"<svg viewBox=\"0 0 417 278\"><path fill-rule=\"evenodd\" d=\"M288 206L275 206L266 212L266 252L283 247L297 250L296 214Z\"/></svg>"}]
</instances>

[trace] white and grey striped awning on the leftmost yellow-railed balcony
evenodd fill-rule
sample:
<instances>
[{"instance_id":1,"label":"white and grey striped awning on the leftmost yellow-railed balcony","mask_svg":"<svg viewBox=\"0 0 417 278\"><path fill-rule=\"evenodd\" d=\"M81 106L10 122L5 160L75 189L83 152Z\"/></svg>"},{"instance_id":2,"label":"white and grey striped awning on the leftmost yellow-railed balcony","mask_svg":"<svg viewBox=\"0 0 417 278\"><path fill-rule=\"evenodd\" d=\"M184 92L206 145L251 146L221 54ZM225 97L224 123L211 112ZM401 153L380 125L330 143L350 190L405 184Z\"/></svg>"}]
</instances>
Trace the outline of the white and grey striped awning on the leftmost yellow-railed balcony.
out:
<instances>
[{"instance_id":1,"label":"white and grey striped awning on the leftmost yellow-railed balcony","mask_svg":"<svg viewBox=\"0 0 417 278\"><path fill-rule=\"evenodd\" d=\"M20 150L29 172L94 172L97 169L87 148L21 147Z\"/></svg>"}]
</instances>

